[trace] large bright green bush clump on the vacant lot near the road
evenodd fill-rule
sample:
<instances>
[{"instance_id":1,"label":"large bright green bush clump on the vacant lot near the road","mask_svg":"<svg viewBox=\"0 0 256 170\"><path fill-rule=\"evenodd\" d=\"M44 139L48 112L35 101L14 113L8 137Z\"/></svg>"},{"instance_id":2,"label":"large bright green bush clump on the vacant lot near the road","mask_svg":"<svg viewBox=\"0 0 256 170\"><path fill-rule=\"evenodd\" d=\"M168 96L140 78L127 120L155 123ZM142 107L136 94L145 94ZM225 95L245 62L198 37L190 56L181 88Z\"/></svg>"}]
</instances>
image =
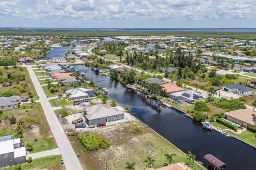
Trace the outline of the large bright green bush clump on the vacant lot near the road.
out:
<instances>
[{"instance_id":1,"label":"large bright green bush clump on the vacant lot near the road","mask_svg":"<svg viewBox=\"0 0 256 170\"><path fill-rule=\"evenodd\" d=\"M110 146L110 142L97 136L91 135L89 133L81 134L78 136L78 139L81 141L87 152L92 152L98 149L105 149Z\"/></svg>"}]
</instances>

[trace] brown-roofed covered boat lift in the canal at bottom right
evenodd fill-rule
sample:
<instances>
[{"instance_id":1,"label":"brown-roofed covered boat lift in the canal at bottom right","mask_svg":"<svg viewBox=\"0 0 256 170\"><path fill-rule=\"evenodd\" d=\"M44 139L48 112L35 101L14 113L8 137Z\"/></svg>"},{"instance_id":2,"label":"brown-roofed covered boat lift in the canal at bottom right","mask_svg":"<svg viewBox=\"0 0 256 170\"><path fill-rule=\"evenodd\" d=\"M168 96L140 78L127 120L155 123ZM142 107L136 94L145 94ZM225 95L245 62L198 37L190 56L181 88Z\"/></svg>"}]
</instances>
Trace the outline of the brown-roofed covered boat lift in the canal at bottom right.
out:
<instances>
[{"instance_id":1,"label":"brown-roofed covered boat lift in the canal at bottom right","mask_svg":"<svg viewBox=\"0 0 256 170\"><path fill-rule=\"evenodd\" d=\"M204 160L206 160L207 168L209 169L222 170L227 168L227 164L223 163L221 160L211 154L205 155Z\"/></svg>"}]
</instances>

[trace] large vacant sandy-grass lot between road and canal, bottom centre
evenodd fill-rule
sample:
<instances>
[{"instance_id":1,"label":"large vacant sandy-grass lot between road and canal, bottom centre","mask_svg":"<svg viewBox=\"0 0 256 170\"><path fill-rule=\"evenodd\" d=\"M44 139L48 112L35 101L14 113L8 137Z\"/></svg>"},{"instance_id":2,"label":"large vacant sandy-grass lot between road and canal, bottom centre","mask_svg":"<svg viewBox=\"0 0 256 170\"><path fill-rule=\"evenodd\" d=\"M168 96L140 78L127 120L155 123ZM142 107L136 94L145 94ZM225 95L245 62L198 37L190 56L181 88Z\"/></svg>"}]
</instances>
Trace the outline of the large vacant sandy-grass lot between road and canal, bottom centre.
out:
<instances>
[{"instance_id":1,"label":"large vacant sandy-grass lot between road and canal, bottom centre","mask_svg":"<svg viewBox=\"0 0 256 170\"><path fill-rule=\"evenodd\" d=\"M122 129L121 129L122 128ZM121 130L120 130L121 129ZM149 129L140 121L121 123L91 131L94 135L110 141L108 149L100 149L88 154L76 136L69 136L75 151L81 154L79 160L87 169L123 169L126 162L135 162L135 169L146 169L143 160L155 159L155 167L162 167L166 158L164 154L177 154L174 163L186 163L186 156L177 148ZM111 155L111 156L110 156ZM195 169L202 169L195 165Z\"/></svg>"}]
</instances>

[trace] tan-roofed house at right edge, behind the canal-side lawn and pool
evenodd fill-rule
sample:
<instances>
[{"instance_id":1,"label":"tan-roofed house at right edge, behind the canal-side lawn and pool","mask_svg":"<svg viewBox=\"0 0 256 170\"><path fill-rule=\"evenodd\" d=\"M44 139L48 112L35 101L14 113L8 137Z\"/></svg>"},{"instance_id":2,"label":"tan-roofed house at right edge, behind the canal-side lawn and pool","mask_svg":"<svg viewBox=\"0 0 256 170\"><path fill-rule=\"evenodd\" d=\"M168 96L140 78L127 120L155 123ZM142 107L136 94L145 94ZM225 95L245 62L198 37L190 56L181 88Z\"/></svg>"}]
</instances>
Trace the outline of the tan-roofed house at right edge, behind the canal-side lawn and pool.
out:
<instances>
[{"instance_id":1,"label":"tan-roofed house at right edge, behind the canal-side lawn and pool","mask_svg":"<svg viewBox=\"0 0 256 170\"><path fill-rule=\"evenodd\" d=\"M224 115L227 120L244 126L245 128L256 125L255 112L250 108L226 112Z\"/></svg>"}]
</instances>

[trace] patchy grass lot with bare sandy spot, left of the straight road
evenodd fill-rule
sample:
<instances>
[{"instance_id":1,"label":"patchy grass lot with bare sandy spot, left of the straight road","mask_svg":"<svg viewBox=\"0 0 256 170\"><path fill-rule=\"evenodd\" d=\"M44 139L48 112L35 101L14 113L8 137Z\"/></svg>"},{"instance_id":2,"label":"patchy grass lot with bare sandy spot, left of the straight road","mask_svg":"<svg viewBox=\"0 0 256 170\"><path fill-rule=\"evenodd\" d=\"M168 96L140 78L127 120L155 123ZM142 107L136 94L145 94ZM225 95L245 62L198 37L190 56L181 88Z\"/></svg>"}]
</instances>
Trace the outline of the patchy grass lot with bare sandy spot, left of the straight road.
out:
<instances>
[{"instance_id":1,"label":"patchy grass lot with bare sandy spot, left of the straight road","mask_svg":"<svg viewBox=\"0 0 256 170\"><path fill-rule=\"evenodd\" d=\"M23 109L22 107L26 108ZM22 104L20 108L4 111L0 116L0 135L15 133L20 119L24 120L23 141L33 145L32 152L44 151L57 148L54 138L51 138L51 130L46 123L46 118L40 103L35 103L35 108L31 108L30 103ZM9 117L15 116L16 123L10 123ZM50 137L50 138L49 138Z\"/></svg>"}]
</instances>

